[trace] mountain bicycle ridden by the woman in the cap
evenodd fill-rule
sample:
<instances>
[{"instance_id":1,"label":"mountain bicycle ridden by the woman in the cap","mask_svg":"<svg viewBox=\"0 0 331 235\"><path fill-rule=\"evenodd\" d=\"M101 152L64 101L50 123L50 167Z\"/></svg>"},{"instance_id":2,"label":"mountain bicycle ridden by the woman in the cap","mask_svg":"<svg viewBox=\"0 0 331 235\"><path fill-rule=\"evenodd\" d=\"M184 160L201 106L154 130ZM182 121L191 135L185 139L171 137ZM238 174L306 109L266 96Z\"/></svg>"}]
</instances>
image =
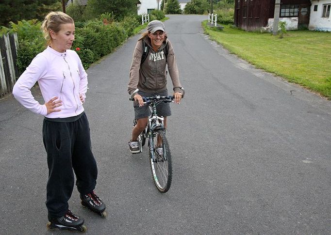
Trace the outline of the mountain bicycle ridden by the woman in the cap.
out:
<instances>
[{"instance_id":1,"label":"mountain bicycle ridden by the woman in the cap","mask_svg":"<svg viewBox=\"0 0 331 235\"><path fill-rule=\"evenodd\" d=\"M134 101L133 97L137 94L139 89L136 89L130 100ZM184 89L182 88L184 96ZM144 104L148 104L152 110L151 115L148 117L148 124L145 130L140 133L138 142L140 144L140 153L142 153L142 146L145 145L148 139L149 145L149 164L152 173L153 181L156 188L165 193L169 190L172 180L172 164L171 153L168 141L165 137L164 117L158 116L156 107L161 102L174 102L173 95L154 95L150 97L142 97ZM136 125L136 119L133 120L133 127Z\"/></svg>"}]
</instances>

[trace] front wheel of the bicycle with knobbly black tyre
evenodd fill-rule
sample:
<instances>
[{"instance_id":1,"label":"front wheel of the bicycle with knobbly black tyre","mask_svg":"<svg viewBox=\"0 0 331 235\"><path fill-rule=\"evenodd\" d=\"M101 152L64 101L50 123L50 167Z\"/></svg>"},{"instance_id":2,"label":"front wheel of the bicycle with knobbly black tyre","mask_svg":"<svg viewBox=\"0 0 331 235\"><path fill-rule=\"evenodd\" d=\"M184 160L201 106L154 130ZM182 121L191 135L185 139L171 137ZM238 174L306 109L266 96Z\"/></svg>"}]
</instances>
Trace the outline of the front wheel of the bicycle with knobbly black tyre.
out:
<instances>
[{"instance_id":1,"label":"front wheel of the bicycle with knobbly black tyre","mask_svg":"<svg viewBox=\"0 0 331 235\"><path fill-rule=\"evenodd\" d=\"M169 190L172 179L169 144L165 138L165 132L163 130L154 131L152 138L154 159L152 153L149 152L150 169L156 188L164 193Z\"/></svg>"}]
</instances>

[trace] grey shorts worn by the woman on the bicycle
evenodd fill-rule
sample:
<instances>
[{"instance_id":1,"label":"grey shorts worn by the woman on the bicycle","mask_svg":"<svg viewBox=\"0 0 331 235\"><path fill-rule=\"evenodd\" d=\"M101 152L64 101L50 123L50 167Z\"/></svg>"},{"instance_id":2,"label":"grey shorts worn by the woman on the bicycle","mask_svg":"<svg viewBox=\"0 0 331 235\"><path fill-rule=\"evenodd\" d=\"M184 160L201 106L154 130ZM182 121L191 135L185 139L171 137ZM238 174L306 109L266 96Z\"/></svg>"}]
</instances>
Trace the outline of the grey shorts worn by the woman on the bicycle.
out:
<instances>
[{"instance_id":1,"label":"grey shorts worn by the woman on the bicycle","mask_svg":"<svg viewBox=\"0 0 331 235\"><path fill-rule=\"evenodd\" d=\"M141 96L153 96L153 95L168 95L168 90L165 90L163 92L160 93L145 93L142 91L139 91L138 94L140 94ZM133 108L134 108L134 118L135 119L140 119L140 118L145 118L148 117L152 111L149 109L148 104L145 104L142 107L139 107L138 102L133 102ZM170 110L170 103L165 103L165 102L161 102L157 105L156 107L156 111L158 113L159 116L170 116L171 115L171 110Z\"/></svg>"}]
</instances>

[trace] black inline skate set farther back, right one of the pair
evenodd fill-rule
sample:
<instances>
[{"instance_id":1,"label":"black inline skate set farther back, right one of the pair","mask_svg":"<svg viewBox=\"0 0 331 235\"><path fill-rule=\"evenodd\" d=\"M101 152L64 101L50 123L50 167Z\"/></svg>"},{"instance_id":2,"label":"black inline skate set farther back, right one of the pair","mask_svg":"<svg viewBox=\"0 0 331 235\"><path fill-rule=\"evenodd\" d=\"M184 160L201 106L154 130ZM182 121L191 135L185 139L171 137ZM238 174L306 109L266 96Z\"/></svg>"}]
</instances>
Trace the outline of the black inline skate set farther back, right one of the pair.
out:
<instances>
[{"instance_id":1,"label":"black inline skate set farther back, right one of the pair","mask_svg":"<svg viewBox=\"0 0 331 235\"><path fill-rule=\"evenodd\" d=\"M106 205L102 200L94 193L94 191L81 194L82 205L90 209L91 211L99 214L101 217L106 217L107 213L105 212Z\"/></svg>"}]
</instances>

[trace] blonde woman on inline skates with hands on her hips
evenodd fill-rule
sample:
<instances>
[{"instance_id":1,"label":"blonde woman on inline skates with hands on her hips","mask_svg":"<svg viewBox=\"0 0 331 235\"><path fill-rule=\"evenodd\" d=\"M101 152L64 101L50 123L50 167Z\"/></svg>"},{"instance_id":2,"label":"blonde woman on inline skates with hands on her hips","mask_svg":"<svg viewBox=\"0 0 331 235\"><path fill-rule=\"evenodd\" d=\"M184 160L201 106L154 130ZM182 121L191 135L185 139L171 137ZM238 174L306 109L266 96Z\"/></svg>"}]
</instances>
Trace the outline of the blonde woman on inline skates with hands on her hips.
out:
<instances>
[{"instance_id":1,"label":"blonde woman on inline skates with hands on her hips","mask_svg":"<svg viewBox=\"0 0 331 235\"><path fill-rule=\"evenodd\" d=\"M68 206L74 173L82 204L101 215L105 213L105 204L93 191L98 169L83 108L87 74L78 54L70 50L75 39L75 24L70 16L49 13L42 31L48 46L18 78L13 94L24 107L44 116L43 141L49 168L48 228L84 231L84 219L72 213ZM30 91L37 81L44 104L35 100Z\"/></svg>"}]
</instances>

